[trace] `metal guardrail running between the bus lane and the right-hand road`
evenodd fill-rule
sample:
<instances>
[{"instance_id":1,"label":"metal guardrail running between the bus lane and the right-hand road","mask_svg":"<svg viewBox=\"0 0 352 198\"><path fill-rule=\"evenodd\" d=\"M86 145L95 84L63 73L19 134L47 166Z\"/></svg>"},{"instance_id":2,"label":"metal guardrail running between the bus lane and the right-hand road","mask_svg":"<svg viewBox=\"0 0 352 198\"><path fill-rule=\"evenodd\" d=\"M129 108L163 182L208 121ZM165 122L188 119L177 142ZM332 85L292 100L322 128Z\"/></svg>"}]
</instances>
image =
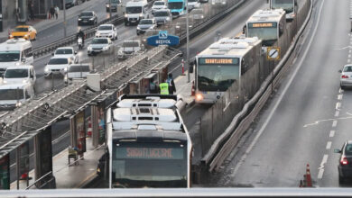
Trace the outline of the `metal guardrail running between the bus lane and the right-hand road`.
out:
<instances>
[{"instance_id":1,"label":"metal guardrail running between the bus lane and the right-hand road","mask_svg":"<svg viewBox=\"0 0 352 198\"><path fill-rule=\"evenodd\" d=\"M310 21L312 6L313 2L310 0L310 12L307 14L305 22L301 26L300 31L296 34L296 37L294 38L292 45L288 49L287 53L284 55L283 59L280 61L277 67L275 67L273 70L273 76L268 76L265 79L264 84L261 86L259 91L250 101L245 103L243 110L236 115L236 117L227 127L227 130L225 130L224 133L215 140L212 147L208 150L208 153L201 159L202 165L208 166L208 170L210 172L221 166L232 149L236 147L236 143L241 138L245 130L249 128L251 122L254 121L255 116L260 112L264 106L264 103L266 103L267 99L272 93L272 84L277 85L279 79L283 77L283 74L286 71L284 67L285 63L290 58L299 38L301 37L302 32Z\"/></svg>"}]
</instances>

